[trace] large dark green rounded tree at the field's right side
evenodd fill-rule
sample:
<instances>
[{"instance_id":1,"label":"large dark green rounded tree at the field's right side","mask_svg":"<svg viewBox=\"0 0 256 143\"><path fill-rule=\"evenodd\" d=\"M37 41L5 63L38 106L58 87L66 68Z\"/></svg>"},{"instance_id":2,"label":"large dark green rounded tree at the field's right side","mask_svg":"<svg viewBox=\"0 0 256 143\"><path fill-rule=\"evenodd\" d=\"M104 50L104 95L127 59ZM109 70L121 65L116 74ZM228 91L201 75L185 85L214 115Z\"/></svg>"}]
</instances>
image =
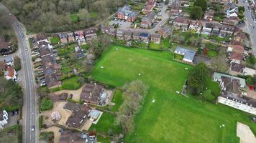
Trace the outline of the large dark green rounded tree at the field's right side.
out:
<instances>
[{"instance_id":1,"label":"large dark green rounded tree at the field's right side","mask_svg":"<svg viewBox=\"0 0 256 143\"><path fill-rule=\"evenodd\" d=\"M190 87L194 94L201 94L206 89L207 79L206 64L200 63L191 69L188 75L188 87Z\"/></svg>"}]
</instances>

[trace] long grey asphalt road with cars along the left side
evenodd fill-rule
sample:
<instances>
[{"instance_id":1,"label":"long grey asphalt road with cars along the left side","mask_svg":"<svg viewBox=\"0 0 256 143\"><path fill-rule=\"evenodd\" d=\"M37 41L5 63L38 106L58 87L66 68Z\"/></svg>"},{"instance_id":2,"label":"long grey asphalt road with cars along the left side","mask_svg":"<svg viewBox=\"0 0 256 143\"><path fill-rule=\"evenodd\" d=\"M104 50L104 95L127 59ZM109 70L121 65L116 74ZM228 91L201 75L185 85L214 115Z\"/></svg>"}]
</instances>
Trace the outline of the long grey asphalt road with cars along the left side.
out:
<instances>
[{"instance_id":1,"label":"long grey asphalt road with cars along the left side","mask_svg":"<svg viewBox=\"0 0 256 143\"><path fill-rule=\"evenodd\" d=\"M0 9L4 9L6 14L9 14L9 10L6 9L4 5L0 3ZM22 70L24 70L24 75L22 76L24 87L24 104L23 104L23 142L25 143L36 143L38 142L38 127L37 127L37 110L36 110L36 99L35 99L35 76L32 66L32 59L30 57L29 42L22 29L22 24L19 24L16 17L12 14L10 16L10 21L12 23L13 29L17 34L19 49L21 50L22 57ZM19 25L18 25L19 24ZM23 35L23 36L22 36ZM35 126L35 131L32 132L31 128Z\"/></svg>"}]
</instances>

